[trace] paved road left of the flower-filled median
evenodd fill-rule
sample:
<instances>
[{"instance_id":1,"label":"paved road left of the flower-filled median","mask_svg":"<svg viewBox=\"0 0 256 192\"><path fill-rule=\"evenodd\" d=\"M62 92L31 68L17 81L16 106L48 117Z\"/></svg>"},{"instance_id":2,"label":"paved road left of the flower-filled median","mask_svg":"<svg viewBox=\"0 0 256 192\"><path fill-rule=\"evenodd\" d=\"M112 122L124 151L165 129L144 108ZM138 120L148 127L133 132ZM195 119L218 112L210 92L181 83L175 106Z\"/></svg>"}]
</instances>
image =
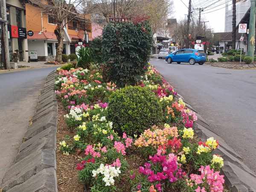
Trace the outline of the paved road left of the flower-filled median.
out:
<instances>
[{"instance_id":1,"label":"paved road left of the flower-filled median","mask_svg":"<svg viewBox=\"0 0 256 192\"><path fill-rule=\"evenodd\" d=\"M55 68L0 74L0 183L35 113L44 79Z\"/></svg>"}]
</instances>

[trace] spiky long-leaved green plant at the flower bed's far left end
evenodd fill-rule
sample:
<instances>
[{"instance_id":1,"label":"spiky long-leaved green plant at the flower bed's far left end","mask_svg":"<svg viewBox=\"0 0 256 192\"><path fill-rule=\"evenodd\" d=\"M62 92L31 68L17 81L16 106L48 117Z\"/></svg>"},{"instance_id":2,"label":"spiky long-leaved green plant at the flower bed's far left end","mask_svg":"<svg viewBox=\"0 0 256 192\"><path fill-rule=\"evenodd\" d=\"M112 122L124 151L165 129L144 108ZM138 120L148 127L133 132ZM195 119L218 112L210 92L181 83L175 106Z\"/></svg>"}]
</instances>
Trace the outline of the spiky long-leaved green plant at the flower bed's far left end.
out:
<instances>
[{"instance_id":1,"label":"spiky long-leaved green plant at the flower bed's far left end","mask_svg":"<svg viewBox=\"0 0 256 192\"><path fill-rule=\"evenodd\" d=\"M76 68L82 67L84 69L89 69L90 64L93 62L92 49L90 49L89 47L81 47L81 49L77 51L77 55L78 55L78 60L77 60Z\"/></svg>"}]
</instances>

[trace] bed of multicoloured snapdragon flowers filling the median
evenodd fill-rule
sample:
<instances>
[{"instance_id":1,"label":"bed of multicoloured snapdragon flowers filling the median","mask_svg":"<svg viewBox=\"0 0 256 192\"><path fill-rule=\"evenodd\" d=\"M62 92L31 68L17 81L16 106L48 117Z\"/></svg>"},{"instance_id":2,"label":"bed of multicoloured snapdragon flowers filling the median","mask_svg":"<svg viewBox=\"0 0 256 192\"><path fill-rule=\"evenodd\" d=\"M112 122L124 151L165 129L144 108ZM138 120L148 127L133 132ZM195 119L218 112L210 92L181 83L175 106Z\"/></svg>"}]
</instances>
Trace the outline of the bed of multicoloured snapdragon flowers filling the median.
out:
<instances>
[{"instance_id":1,"label":"bed of multicoloured snapdragon flowers filling the median","mask_svg":"<svg viewBox=\"0 0 256 192\"><path fill-rule=\"evenodd\" d=\"M67 110L67 127L74 132L73 140L61 141L58 148L79 157L79 181L91 192L224 191L224 176L219 175L223 159L211 154L218 141L211 137L203 143L194 135L196 114L181 98L174 99L177 93L154 67L148 66L140 88L119 91L103 81L100 70L57 71L55 92ZM134 99L142 93L154 96L150 106L140 107L141 100ZM153 104L156 110L160 106L157 122L148 118L155 118Z\"/></svg>"}]
</instances>

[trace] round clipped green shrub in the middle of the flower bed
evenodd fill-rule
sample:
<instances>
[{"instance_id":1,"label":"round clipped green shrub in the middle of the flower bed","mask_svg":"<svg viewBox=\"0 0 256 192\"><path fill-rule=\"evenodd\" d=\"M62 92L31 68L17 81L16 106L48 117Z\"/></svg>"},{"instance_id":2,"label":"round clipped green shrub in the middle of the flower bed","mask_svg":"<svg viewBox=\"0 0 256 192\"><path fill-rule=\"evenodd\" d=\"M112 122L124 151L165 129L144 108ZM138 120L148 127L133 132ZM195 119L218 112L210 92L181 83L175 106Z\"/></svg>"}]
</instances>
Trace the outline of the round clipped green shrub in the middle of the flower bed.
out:
<instances>
[{"instance_id":1,"label":"round clipped green shrub in the middle of the flower bed","mask_svg":"<svg viewBox=\"0 0 256 192\"><path fill-rule=\"evenodd\" d=\"M140 135L151 125L159 123L163 111L153 92L146 87L128 86L113 92L109 98L108 119L121 134Z\"/></svg>"}]
</instances>

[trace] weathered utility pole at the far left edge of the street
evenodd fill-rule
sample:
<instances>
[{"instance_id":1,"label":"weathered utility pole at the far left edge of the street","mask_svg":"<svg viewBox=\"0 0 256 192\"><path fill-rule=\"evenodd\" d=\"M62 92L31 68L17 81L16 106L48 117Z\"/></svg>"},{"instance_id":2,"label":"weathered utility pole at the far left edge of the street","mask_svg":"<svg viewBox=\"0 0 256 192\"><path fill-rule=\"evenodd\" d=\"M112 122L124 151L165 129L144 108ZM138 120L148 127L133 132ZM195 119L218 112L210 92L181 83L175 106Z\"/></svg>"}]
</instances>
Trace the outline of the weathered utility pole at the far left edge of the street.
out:
<instances>
[{"instance_id":1,"label":"weathered utility pole at the far left edge of the street","mask_svg":"<svg viewBox=\"0 0 256 192\"><path fill-rule=\"evenodd\" d=\"M8 29L6 16L6 0L1 0L1 17L5 21L3 23L3 49L5 58L5 68L10 69L9 43L8 43Z\"/></svg>"}]
</instances>

